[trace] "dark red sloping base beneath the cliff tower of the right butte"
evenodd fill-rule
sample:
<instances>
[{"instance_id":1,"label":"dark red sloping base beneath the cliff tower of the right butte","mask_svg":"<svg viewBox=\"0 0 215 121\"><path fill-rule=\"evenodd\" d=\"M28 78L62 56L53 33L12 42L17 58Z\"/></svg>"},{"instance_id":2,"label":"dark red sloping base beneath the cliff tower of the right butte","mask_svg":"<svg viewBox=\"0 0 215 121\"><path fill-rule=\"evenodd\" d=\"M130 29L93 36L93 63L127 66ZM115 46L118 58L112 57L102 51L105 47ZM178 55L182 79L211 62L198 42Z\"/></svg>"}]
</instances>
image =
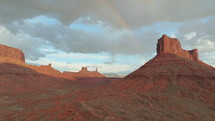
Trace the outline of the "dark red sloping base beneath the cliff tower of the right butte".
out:
<instances>
[{"instance_id":1,"label":"dark red sloping base beneath the cliff tower of the right butte","mask_svg":"<svg viewBox=\"0 0 215 121\"><path fill-rule=\"evenodd\" d=\"M215 93L215 70L173 54L159 54L132 72L117 88L135 92L195 91Z\"/></svg>"}]
</instances>

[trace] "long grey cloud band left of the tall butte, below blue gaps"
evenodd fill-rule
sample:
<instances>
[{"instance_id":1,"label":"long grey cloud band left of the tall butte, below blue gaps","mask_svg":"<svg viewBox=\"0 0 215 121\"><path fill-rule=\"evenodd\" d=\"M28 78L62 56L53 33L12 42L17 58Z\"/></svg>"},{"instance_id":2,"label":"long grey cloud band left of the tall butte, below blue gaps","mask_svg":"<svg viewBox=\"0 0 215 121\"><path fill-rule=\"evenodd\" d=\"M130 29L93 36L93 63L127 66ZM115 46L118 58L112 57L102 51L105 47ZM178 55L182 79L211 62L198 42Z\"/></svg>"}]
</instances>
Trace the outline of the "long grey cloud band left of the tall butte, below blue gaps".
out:
<instances>
[{"instance_id":1,"label":"long grey cloud band left of the tall butte, below blue gaps","mask_svg":"<svg viewBox=\"0 0 215 121\"><path fill-rule=\"evenodd\" d=\"M6 27L14 34L27 34L45 41L42 44L68 53L143 54L152 52L152 49L155 50L148 47L154 47L160 36L160 33L155 30L149 32L136 29L116 29L103 24L100 26L92 24L90 25L92 31L89 31L85 30L86 28L75 29L63 24L44 24L32 21L34 19L14 22ZM93 31L93 27L97 27L97 30Z\"/></svg>"}]
</instances>

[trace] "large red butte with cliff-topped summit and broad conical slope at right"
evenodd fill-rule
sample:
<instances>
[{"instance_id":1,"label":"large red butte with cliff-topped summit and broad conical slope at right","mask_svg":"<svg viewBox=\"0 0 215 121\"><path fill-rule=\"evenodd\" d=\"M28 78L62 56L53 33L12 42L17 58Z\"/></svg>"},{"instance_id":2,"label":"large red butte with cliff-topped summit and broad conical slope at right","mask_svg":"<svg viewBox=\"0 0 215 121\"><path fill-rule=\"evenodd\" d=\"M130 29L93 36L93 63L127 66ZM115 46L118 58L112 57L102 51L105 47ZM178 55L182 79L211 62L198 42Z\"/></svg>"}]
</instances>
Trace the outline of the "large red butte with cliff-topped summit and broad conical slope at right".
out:
<instances>
[{"instance_id":1,"label":"large red butte with cliff-topped summit and broad conical slope at right","mask_svg":"<svg viewBox=\"0 0 215 121\"><path fill-rule=\"evenodd\" d=\"M117 88L143 92L189 90L215 92L215 69L198 59L197 50L186 51L177 39L163 35L157 43L157 56L132 72Z\"/></svg>"}]
</instances>

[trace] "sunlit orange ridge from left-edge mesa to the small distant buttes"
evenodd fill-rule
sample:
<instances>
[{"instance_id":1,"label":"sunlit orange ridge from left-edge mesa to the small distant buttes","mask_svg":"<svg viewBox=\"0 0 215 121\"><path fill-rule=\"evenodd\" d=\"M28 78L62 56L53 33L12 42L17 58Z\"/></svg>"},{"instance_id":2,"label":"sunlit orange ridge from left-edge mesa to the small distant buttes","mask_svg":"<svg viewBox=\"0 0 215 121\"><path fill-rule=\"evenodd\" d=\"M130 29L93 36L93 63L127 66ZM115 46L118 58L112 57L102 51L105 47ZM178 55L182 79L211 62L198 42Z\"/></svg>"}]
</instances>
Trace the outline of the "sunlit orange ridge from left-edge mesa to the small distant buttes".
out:
<instances>
[{"instance_id":1,"label":"sunlit orange ridge from left-edge mesa to the small distant buttes","mask_svg":"<svg viewBox=\"0 0 215 121\"><path fill-rule=\"evenodd\" d=\"M28 65L25 63L25 55L21 50L13 47L8 47L5 45L0 45L0 62L18 64L18 65L33 69L36 72L41 74L67 78L70 80L75 80L75 78L80 78L80 77L105 77L104 75L99 73L97 69L96 71L88 71L87 67L82 67L82 69L79 72L62 73L54 69L51 64L41 65L41 66Z\"/></svg>"}]
</instances>

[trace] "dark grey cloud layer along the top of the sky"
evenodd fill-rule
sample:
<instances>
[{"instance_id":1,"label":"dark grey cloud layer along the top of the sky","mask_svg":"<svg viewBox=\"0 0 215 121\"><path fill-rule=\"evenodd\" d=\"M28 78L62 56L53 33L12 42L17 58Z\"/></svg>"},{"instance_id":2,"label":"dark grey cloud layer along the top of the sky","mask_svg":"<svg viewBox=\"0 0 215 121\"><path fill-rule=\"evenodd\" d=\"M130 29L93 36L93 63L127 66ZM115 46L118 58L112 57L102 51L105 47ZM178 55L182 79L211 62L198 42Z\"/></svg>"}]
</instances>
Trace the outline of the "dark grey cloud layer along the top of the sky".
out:
<instances>
[{"instance_id":1,"label":"dark grey cloud layer along the top of the sky","mask_svg":"<svg viewBox=\"0 0 215 121\"><path fill-rule=\"evenodd\" d=\"M181 22L215 15L214 0L1 0L1 22L47 15L68 25L81 17L110 26L139 27L158 21Z\"/></svg>"}]
</instances>

